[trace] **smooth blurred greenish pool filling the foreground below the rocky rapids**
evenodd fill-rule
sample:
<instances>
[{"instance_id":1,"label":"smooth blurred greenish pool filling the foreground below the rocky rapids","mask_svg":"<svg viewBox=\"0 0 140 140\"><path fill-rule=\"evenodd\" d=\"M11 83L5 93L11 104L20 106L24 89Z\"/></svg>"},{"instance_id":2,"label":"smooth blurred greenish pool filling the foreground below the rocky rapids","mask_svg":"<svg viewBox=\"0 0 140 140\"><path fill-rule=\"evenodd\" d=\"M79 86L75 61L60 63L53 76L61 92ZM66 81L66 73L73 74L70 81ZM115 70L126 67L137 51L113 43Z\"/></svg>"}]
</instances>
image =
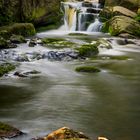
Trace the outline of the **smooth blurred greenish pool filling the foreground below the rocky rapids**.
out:
<instances>
[{"instance_id":1,"label":"smooth blurred greenish pool filling the foreground below the rocky rapids","mask_svg":"<svg viewBox=\"0 0 140 140\"><path fill-rule=\"evenodd\" d=\"M130 59L23 63L18 69L37 69L41 76L0 80L0 121L33 136L62 126L91 138L138 140L140 137L140 53L121 50ZM102 71L76 73L87 63Z\"/></svg>"}]
</instances>

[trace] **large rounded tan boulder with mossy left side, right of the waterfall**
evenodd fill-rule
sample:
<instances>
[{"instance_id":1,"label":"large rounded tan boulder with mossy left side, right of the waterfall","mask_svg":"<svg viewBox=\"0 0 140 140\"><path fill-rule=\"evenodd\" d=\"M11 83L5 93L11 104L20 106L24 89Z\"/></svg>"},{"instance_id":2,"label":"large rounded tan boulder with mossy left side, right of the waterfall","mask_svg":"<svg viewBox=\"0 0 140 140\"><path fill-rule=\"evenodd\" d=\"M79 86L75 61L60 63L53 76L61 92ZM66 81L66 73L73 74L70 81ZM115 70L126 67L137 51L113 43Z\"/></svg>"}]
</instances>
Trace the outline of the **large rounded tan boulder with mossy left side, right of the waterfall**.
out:
<instances>
[{"instance_id":1,"label":"large rounded tan boulder with mossy left side, right of the waterfall","mask_svg":"<svg viewBox=\"0 0 140 140\"><path fill-rule=\"evenodd\" d=\"M103 25L102 31L107 31L114 36L122 33L140 36L140 24L130 17L115 16Z\"/></svg>"}]
</instances>

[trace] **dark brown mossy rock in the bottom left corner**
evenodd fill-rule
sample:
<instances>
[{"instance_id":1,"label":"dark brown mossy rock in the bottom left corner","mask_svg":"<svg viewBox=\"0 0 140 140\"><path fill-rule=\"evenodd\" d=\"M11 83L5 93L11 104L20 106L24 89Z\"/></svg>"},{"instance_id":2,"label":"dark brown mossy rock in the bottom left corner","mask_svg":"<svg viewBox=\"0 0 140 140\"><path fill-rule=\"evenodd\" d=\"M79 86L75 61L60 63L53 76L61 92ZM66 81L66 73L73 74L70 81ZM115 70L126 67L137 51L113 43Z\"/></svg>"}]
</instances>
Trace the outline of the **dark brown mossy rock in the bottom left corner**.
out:
<instances>
[{"instance_id":1,"label":"dark brown mossy rock in the bottom left corner","mask_svg":"<svg viewBox=\"0 0 140 140\"><path fill-rule=\"evenodd\" d=\"M13 138L22 134L17 128L0 122L0 138Z\"/></svg>"}]
</instances>

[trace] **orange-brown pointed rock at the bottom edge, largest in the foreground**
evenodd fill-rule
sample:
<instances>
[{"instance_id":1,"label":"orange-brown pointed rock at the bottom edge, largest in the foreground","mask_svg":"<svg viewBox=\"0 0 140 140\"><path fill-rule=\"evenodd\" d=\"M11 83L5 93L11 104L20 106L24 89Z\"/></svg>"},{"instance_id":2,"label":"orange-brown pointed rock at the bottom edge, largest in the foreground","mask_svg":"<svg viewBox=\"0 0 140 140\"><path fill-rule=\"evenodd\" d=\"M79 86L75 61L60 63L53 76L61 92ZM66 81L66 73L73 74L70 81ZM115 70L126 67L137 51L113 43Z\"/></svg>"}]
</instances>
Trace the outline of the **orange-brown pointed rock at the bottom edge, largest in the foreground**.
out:
<instances>
[{"instance_id":1,"label":"orange-brown pointed rock at the bottom edge, largest in the foreground","mask_svg":"<svg viewBox=\"0 0 140 140\"><path fill-rule=\"evenodd\" d=\"M76 132L68 127L62 127L45 137L33 140L89 140L82 132Z\"/></svg>"}]
</instances>

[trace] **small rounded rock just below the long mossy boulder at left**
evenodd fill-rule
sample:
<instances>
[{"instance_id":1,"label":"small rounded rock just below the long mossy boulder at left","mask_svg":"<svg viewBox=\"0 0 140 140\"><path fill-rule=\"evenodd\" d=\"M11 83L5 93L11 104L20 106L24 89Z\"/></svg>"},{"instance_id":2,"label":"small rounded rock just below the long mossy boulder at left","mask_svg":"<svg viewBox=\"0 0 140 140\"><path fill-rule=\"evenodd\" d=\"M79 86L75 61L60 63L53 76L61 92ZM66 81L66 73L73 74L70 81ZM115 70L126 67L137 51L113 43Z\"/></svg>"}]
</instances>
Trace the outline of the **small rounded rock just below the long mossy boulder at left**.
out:
<instances>
[{"instance_id":1,"label":"small rounded rock just below the long mossy boulder at left","mask_svg":"<svg viewBox=\"0 0 140 140\"><path fill-rule=\"evenodd\" d=\"M12 36L10 37L10 41L11 41L12 43L16 43L16 44L19 44L19 43L26 43L25 38L24 38L23 36L21 36L21 35L12 35Z\"/></svg>"}]
</instances>

